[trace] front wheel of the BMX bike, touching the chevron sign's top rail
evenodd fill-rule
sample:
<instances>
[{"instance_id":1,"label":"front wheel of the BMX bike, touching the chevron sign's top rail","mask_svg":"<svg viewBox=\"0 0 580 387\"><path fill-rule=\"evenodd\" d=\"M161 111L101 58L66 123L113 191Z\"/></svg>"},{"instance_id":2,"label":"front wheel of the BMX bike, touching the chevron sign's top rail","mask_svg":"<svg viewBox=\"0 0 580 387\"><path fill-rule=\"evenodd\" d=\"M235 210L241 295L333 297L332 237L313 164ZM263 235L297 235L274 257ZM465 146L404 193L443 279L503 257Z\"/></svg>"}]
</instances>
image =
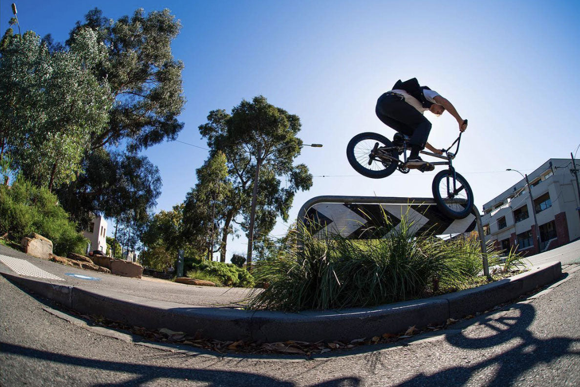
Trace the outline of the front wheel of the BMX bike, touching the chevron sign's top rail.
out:
<instances>
[{"instance_id":1,"label":"front wheel of the BMX bike, touching the chevron sign's top rail","mask_svg":"<svg viewBox=\"0 0 580 387\"><path fill-rule=\"evenodd\" d=\"M437 207L446 216L452 219L463 219L472 212L473 191L471 187L469 187L469 183L467 180L465 180L465 177L456 172L455 181L455 189L459 190L459 192L447 195L447 184L449 184L451 187L453 184L452 173L448 169L437 173L433 179L433 184L431 187L433 191L433 199L435 199ZM465 199L465 203L448 203L445 202L446 199Z\"/></svg>"}]
</instances>

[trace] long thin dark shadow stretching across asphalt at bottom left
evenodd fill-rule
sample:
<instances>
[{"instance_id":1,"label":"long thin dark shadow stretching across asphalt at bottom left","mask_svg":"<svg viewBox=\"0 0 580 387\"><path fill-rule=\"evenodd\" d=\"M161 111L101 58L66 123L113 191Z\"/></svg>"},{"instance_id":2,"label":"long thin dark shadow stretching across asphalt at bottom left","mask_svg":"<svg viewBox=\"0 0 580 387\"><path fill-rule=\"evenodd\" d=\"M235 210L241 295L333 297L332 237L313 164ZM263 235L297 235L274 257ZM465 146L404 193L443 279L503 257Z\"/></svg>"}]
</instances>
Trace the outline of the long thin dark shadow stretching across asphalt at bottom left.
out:
<instances>
[{"instance_id":1,"label":"long thin dark shadow stretching across asphalt at bottom left","mask_svg":"<svg viewBox=\"0 0 580 387\"><path fill-rule=\"evenodd\" d=\"M121 387L142 386L156 379L176 379L206 382L208 386L295 386L291 382L270 378L249 372L234 372L222 370L206 370L180 367L150 366L148 364L119 363L118 361L106 361L86 359L83 357L53 353L45 350L24 347L20 345L0 343L3 353L16 356L30 357L32 359L46 360L52 363L68 364L71 366L95 368L96 370L126 372L135 375L131 380L124 380L115 384L93 384L94 387ZM357 387L361 383L358 378L337 378L331 381L312 385L311 387Z\"/></svg>"}]
</instances>

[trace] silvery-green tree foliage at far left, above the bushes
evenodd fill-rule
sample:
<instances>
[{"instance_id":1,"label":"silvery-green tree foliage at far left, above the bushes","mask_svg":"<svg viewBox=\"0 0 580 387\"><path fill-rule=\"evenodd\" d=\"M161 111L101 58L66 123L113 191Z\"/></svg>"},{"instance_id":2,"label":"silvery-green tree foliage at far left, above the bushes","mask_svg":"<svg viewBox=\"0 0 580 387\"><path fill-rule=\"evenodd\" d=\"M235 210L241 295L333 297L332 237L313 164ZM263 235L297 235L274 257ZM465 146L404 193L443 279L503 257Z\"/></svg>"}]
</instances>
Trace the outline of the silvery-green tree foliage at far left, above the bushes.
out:
<instances>
[{"instance_id":1,"label":"silvery-green tree foliage at far left, above the bushes","mask_svg":"<svg viewBox=\"0 0 580 387\"><path fill-rule=\"evenodd\" d=\"M6 38L6 35L5 35ZM99 137L113 99L93 70L107 56L96 33L79 28L67 51L51 52L28 31L6 38L0 58L0 142L37 185L70 182L90 139Z\"/></svg>"}]
</instances>

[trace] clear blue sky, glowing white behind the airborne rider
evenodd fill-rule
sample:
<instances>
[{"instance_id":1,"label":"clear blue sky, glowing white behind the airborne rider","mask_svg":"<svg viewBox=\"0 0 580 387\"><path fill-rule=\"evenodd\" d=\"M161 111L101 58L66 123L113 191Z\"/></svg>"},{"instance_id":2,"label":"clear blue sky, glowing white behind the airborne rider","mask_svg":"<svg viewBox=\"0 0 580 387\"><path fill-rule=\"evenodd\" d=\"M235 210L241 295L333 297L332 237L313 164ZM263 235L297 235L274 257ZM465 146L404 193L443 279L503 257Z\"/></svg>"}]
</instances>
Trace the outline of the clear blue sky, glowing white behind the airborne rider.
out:
<instances>
[{"instance_id":1,"label":"clear blue sky, glowing white behind the airborne rider","mask_svg":"<svg viewBox=\"0 0 580 387\"><path fill-rule=\"evenodd\" d=\"M10 3L0 1L2 31ZM291 220L318 195L431 195L436 172L371 180L346 160L358 132L393 135L374 109L399 78L417 77L469 119L455 166L480 209L520 180L506 168L525 173L550 157L570 157L580 144L579 2L17 2L23 32L51 33L56 41L95 6L113 19L139 7L169 8L182 21L172 46L185 64L180 141L205 147L197 128L208 112L256 95L298 114L300 137L324 148L304 148L297 160L309 166L314 185L296 195ZM425 114L433 123L429 142L451 144L455 120ZM157 210L183 201L207 156L180 142L144 153L164 183ZM272 234L284 231L279 221ZM229 253L245 252L245 243L234 240Z\"/></svg>"}]
</instances>

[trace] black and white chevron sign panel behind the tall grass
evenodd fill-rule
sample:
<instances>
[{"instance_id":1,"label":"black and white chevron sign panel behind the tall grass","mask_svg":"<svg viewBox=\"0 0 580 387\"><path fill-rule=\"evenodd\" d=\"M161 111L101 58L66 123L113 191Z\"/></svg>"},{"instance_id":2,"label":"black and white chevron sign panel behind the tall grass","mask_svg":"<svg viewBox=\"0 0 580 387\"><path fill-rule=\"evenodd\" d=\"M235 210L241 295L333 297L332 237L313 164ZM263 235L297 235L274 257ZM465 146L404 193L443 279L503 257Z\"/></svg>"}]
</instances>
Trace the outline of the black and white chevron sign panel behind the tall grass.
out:
<instances>
[{"instance_id":1,"label":"black and white chevron sign panel behind the tall grass","mask_svg":"<svg viewBox=\"0 0 580 387\"><path fill-rule=\"evenodd\" d=\"M403 218L411 234L418 235L459 234L477 225L474 213L455 220L434 204L316 203L306 210L303 221L318 237L340 234L349 239L380 239L400 227Z\"/></svg>"}]
</instances>

